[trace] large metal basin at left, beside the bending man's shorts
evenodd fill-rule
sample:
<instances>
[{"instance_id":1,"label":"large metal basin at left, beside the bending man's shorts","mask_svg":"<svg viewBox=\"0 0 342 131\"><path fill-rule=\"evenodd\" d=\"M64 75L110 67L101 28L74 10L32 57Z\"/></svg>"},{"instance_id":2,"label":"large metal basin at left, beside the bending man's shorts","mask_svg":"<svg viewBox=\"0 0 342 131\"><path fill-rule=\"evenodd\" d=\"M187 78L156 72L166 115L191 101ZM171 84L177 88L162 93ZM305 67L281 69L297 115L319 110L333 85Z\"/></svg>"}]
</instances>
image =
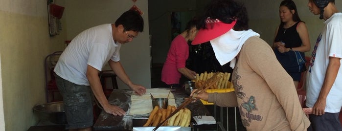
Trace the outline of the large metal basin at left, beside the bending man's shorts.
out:
<instances>
[{"instance_id":1,"label":"large metal basin at left, beside the bending man's shorts","mask_svg":"<svg viewBox=\"0 0 342 131\"><path fill-rule=\"evenodd\" d=\"M63 101L37 105L33 108L41 121L49 121L55 124L67 124Z\"/></svg>"}]
</instances>

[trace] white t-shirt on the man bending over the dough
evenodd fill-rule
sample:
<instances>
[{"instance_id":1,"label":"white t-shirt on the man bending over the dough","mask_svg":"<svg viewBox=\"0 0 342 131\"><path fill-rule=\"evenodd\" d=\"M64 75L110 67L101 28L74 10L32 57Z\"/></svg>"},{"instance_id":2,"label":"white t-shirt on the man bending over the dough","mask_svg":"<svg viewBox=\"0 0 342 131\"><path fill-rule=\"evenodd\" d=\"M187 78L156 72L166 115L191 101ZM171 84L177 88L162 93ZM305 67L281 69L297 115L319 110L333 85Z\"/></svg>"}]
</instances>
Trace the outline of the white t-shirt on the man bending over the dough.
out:
<instances>
[{"instance_id":1,"label":"white t-shirt on the man bending over the dough","mask_svg":"<svg viewBox=\"0 0 342 131\"><path fill-rule=\"evenodd\" d=\"M121 44L115 43L112 25L102 24L78 34L60 56L54 69L57 75L77 85L89 86L87 66L97 70L111 59L120 60Z\"/></svg>"}]
</instances>

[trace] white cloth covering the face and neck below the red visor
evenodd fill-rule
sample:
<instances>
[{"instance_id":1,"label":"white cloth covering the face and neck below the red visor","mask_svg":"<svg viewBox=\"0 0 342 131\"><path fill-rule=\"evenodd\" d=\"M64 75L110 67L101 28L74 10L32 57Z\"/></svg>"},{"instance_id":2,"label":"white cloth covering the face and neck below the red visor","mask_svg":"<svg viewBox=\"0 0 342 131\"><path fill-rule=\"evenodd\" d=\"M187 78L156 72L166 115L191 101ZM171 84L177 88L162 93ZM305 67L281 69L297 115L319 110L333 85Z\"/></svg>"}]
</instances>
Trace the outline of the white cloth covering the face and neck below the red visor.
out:
<instances>
[{"instance_id":1,"label":"white cloth covering the face and neck below the red visor","mask_svg":"<svg viewBox=\"0 0 342 131\"><path fill-rule=\"evenodd\" d=\"M235 57L240 52L245 41L252 36L260 37L258 33L251 29L244 31L230 29L227 33L211 40L210 44L221 66L230 62L229 66L234 68L236 63Z\"/></svg>"}]
</instances>

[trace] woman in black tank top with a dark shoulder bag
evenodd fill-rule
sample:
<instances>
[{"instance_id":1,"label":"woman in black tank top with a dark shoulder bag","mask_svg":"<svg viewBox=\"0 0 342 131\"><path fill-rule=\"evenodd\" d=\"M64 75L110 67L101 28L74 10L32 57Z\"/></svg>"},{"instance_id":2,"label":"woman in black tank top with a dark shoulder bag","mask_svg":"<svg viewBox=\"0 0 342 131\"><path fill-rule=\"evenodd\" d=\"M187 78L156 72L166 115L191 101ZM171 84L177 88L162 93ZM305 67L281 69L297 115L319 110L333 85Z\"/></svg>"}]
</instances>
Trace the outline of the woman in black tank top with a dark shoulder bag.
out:
<instances>
[{"instance_id":1,"label":"woman in black tank top with a dark shoulder bag","mask_svg":"<svg viewBox=\"0 0 342 131\"><path fill-rule=\"evenodd\" d=\"M279 17L280 25L274 34L274 53L298 88L301 72L306 68L305 63L299 63L297 58L305 60L304 52L310 50L308 31L305 23L300 20L296 4L292 0L283 0L280 3Z\"/></svg>"}]
</instances>

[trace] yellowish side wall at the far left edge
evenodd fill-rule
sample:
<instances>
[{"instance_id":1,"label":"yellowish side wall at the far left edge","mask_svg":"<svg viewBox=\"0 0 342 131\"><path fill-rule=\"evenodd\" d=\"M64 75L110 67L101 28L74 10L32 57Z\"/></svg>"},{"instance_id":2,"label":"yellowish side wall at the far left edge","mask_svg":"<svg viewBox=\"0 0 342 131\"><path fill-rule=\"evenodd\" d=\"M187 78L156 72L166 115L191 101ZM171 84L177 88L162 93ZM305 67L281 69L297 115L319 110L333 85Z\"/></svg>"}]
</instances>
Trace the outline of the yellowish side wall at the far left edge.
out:
<instances>
[{"instance_id":1,"label":"yellowish side wall at the far left edge","mask_svg":"<svg viewBox=\"0 0 342 131\"><path fill-rule=\"evenodd\" d=\"M32 108L46 103L44 58L63 49L65 38L63 31L49 37L46 0L0 0L0 131L38 123Z\"/></svg>"}]
</instances>

